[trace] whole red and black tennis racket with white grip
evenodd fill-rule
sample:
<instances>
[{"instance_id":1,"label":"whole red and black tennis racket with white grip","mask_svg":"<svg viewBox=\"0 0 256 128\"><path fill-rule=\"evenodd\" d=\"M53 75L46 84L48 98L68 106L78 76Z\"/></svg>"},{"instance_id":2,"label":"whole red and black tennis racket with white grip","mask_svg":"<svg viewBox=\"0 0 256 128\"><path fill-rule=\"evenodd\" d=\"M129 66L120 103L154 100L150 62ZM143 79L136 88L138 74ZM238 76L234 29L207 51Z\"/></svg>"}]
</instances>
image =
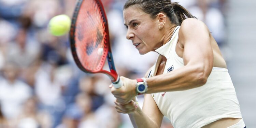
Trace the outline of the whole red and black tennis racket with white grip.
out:
<instances>
[{"instance_id":1,"label":"whole red and black tennis racket with white grip","mask_svg":"<svg viewBox=\"0 0 256 128\"><path fill-rule=\"evenodd\" d=\"M115 70L108 20L100 0L77 0L69 34L76 65L86 73L108 75L114 87L120 88L123 82ZM110 71L103 70L106 59Z\"/></svg>"}]
</instances>

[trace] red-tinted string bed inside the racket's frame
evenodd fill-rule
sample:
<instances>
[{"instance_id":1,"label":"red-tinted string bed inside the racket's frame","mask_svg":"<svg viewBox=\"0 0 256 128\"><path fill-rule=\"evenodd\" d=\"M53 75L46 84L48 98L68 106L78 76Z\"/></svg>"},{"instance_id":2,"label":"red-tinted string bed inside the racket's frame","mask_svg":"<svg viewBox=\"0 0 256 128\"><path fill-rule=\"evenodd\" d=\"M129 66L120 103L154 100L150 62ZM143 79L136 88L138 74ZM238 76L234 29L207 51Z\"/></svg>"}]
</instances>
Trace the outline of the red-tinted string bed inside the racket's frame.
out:
<instances>
[{"instance_id":1,"label":"red-tinted string bed inside the racket's frame","mask_svg":"<svg viewBox=\"0 0 256 128\"><path fill-rule=\"evenodd\" d=\"M89 3L88 3L89 2ZM93 6L92 6L93 5ZM102 69L108 52L108 34L105 32L104 17L95 0L82 3L77 16L75 40L77 56L86 70ZM103 53L99 54L101 49Z\"/></svg>"}]
</instances>

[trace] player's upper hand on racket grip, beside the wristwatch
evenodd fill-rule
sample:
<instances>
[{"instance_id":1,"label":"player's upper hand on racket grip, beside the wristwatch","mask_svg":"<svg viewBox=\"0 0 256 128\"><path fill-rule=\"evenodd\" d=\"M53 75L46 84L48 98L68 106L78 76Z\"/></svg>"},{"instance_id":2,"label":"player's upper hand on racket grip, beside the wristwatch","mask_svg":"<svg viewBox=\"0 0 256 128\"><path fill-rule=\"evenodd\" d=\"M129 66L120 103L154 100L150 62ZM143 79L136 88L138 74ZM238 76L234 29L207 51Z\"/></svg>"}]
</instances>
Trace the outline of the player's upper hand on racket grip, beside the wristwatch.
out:
<instances>
[{"instance_id":1,"label":"player's upper hand on racket grip, beside the wristwatch","mask_svg":"<svg viewBox=\"0 0 256 128\"><path fill-rule=\"evenodd\" d=\"M120 104L128 104L131 100L137 96L136 93L136 80L131 80L126 77L120 76L124 85L116 89L112 84L109 86L111 88L111 93L115 96L116 102Z\"/></svg>"}]
</instances>

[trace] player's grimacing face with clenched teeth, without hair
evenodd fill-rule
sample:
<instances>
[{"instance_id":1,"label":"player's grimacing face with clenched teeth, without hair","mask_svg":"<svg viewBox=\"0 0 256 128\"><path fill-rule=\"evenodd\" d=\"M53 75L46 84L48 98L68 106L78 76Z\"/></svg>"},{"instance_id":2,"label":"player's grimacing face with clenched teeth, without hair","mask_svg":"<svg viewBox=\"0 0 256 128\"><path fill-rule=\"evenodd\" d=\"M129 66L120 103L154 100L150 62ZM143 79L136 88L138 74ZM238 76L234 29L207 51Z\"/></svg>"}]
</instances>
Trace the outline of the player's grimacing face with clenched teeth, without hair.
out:
<instances>
[{"instance_id":1,"label":"player's grimacing face with clenched teeth, without hair","mask_svg":"<svg viewBox=\"0 0 256 128\"><path fill-rule=\"evenodd\" d=\"M126 38L132 41L141 55L161 46L158 18L152 19L149 14L134 5L125 9L123 16L127 27Z\"/></svg>"}]
</instances>

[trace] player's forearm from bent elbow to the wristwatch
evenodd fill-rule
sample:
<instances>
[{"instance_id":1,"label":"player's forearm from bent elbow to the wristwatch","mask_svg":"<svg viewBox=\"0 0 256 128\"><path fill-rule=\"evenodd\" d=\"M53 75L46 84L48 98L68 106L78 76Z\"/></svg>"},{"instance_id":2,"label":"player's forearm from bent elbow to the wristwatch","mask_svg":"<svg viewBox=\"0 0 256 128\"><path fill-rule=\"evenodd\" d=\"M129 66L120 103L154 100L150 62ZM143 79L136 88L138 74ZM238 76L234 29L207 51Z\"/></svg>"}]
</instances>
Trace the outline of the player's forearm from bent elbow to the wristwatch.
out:
<instances>
[{"instance_id":1,"label":"player's forearm from bent elbow to the wristwatch","mask_svg":"<svg viewBox=\"0 0 256 128\"><path fill-rule=\"evenodd\" d=\"M180 91L202 86L209 76L200 66L184 66L166 74L147 78L147 93Z\"/></svg>"}]
</instances>

